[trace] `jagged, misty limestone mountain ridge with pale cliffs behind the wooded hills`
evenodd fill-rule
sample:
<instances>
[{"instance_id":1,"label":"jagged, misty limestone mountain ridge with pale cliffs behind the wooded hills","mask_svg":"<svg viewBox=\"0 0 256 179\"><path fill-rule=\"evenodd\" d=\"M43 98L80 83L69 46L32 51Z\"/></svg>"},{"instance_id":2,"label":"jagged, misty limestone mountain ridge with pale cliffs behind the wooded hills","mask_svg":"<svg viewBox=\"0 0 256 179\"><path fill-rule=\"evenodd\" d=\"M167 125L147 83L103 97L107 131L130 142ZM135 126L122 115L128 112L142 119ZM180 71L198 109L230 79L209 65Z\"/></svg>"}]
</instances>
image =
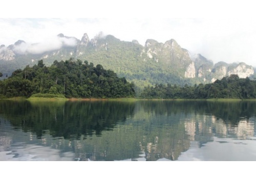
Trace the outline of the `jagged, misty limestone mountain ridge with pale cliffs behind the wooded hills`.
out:
<instances>
[{"instance_id":1,"label":"jagged, misty limestone mountain ridge with pale cliffs behind the wooded hills","mask_svg":"<svg viewBox=\"0 0 256 179\"><path fill-rule=\"evenodd\" d=\"M121 41L113 35L99 33L90 39L84 33L81 40L59 34L54 44L27 44L18 40L14 44L0 48L0 72L10 75L16 69L37 64L44 60L46 65L53 61L66 61L70 58L87 60L105 69L113 70L120 77L134 81L137 85L170 83L184 85L210 83L231 74L240 78L254 74L252 66L243 62L228 64L211 60L201 54L191 56L174 40L159 43L147 39L145 46L138 43Z\"/></svg>"}]
</instances>

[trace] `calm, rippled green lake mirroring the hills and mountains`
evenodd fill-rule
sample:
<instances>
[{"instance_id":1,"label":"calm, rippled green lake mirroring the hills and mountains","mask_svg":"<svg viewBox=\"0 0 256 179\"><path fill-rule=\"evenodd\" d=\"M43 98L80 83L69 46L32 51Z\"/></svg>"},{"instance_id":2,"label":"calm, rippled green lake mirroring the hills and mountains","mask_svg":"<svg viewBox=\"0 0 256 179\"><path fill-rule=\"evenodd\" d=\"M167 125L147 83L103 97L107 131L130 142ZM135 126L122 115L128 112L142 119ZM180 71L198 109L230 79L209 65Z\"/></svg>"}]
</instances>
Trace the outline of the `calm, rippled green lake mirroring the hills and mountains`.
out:
<instances>
[{"instance_id":1,"label":"calm, rippled green lake mirroring the hills and mountains","mask_svg":"<svg viewBox=\"0 0 256 179\"><path fill-rule=\"evenodd\" d=\"M256 161L256 101L0 100L0 161Z\"/></svg>"}]
</instances>

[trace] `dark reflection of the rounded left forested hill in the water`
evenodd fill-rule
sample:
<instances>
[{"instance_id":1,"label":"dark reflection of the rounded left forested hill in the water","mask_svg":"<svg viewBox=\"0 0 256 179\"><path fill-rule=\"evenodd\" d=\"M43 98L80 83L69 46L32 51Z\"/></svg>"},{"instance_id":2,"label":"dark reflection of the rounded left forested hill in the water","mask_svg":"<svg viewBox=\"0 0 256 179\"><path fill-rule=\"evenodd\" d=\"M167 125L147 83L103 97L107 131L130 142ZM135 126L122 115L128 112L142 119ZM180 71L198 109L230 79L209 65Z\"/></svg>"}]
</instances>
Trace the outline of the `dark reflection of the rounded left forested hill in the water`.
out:
<instances>
[{"instance_id":1,"label":"dark reflection of the rounded left forested hill in the water","mask_svg":"<svg viewBox=\"0 0 256 179\"><path fill-rule=\"evenodd\" d=\"M17 102L2 101L1 114L16 128L53 137L79 139L102 130L113 130L118 122L133 114L134 103L120 102Z\"/></svg>"}]
</instances>

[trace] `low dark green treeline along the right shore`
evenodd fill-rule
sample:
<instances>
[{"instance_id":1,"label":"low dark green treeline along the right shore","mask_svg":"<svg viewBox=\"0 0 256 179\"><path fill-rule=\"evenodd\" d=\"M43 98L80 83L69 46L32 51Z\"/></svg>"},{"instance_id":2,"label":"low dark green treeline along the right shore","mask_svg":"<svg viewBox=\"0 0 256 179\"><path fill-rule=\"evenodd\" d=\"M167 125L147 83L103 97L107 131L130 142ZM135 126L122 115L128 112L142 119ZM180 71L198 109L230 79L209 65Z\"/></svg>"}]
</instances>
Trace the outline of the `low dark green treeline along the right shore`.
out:
<instances>
[{"instance_id":1,"label":"low dark green treeline along the right shore","mask_svg":"<svg viewBox=\"0 0 256 179\"><path fill-rule=\"evenodd\" d=\"M140 95L146 99L210 99L210 98L256 98L256 81L230 75L210 84L195 84L194 86L157 84L147 86Z\"/></svg>"}]
</instances>

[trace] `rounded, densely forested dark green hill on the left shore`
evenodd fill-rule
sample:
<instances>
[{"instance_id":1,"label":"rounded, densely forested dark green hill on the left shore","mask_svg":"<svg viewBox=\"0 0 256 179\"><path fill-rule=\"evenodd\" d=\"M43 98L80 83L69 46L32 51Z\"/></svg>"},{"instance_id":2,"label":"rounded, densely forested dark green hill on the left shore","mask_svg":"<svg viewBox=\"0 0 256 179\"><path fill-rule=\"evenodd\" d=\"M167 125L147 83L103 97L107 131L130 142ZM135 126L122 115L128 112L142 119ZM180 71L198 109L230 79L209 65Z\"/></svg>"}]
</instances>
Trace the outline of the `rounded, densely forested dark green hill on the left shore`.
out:
<instances>
[{"instance_id":1,"label":"rounded, densely forested dark green hill on the left shore","mask_svg":"<svg viewBox=\"0 0 256 179\"><path fill-rule=\"evenodd\" d=\"M0 98L30 97L33 94L54 94L67 98L134 97L134 84L117 77L102 65L88 61L55 60L49 67L42 60L37 65L16 70L0 81ZM46 95L44 95L46 96Z\"/></svg>"}]
</instances>

